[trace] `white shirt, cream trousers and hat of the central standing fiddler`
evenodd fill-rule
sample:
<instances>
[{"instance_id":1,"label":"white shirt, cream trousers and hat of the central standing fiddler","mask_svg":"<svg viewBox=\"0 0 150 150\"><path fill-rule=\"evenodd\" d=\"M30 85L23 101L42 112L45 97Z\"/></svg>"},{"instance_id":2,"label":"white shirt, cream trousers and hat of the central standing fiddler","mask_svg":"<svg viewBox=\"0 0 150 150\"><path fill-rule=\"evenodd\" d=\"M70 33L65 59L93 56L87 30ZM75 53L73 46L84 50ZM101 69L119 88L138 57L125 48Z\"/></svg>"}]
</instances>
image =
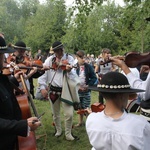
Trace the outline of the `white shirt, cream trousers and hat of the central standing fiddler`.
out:
<instances>
[{"instance_id":1,"label":"white shirt, cream trousers and hat of the central standing fiddler","mask_svg":"<svg viewBox=\"0 0 150 150\"><path fill-rule=\"evenodd\" d=\"M52 46L54 53L55 51L62 51L63 52L63 45L61 42L57 41ZM45 60L44 66L49 66L52 68L53 62L57 59L56 55L53 54L49 58ZM68 64L73 65L74 58L71 55L68 55L66 53L63 53L63 56L59 63L61 63L62 60L67 60ZM52 114L53 114L53 120L56 127L56 134L55 136L60 136L62 134L62 127L61 127L61 119L60 119L60 104L62 103L63 109L64 109L64 116L65 116L65 136L67 140L74 140L75 138L72 136L71 130L72 130L72 119L73 119L73 105L68 103L68 101L65 101L65 98L61 98L61 93L63 87L63 81L64 76L69 78L70 80L74 80L77 75L75 70L71 70L70 72L66 72L65 70L62 70L57 67L57 69L50 69L45 71L45 73L38 78L38 83L40 86L40 89L46 89L47 86L49 86L49 100L51 104ZM74 80L75 81L75 80ZM70 91L65 90L65 95L69 95ZM76 93L78 94L78 93ZM64 94L63 94L64 95Z\"/></svg>"}]
</instances>

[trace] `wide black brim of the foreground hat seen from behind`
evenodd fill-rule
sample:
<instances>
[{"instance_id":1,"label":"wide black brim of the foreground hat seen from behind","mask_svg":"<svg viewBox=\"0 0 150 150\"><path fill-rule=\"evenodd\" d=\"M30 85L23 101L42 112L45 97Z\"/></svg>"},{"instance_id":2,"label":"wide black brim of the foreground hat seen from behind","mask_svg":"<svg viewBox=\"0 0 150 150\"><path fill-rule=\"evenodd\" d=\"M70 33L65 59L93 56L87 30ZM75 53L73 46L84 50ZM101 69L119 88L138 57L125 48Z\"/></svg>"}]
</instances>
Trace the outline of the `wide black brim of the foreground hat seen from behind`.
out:
<instances>
[{"instance_id":1,"label":"wide black brim of the foreground hat seen from behind","mask_svg":"<svg viewBox=\"0 0 150 150\"><path fill-rule=\"evenodd\" d=\"M145 92L145 90L141 90L141 89L133 89L133 88L129 88L129 89L104 89L104 88L100 88L97 86L89 86L88 87L89 90L92 91L99 91L99 92L103 92L103 93L138 93L138 92Z\"/></svg>"}]
</instances>

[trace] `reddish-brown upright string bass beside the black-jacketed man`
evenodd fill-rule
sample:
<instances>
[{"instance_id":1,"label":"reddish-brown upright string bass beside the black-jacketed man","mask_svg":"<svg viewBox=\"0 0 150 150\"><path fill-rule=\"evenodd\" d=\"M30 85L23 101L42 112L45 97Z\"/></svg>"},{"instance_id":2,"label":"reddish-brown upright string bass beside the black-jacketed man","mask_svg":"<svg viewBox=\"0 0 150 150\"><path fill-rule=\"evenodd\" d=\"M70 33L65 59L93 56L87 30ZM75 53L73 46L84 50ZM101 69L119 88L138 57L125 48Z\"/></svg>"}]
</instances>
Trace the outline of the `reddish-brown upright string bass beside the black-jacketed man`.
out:
<instances>
[{"instance_id":1,"label":"reddish-brown upright string bass beside the black-jacketed man","mask_svg":"<svg viewBox=\"0 0 150 150\"><path fill-rule=\"evenodd\" d=\"M28 91L26 82L24 80L24 76L21 74L20 78L24 92L20 95L17 95L16 98L18 100L22 112L22 119L28 119L32 116L30 105L33 109L35 116L38 117L37 110ZM36 137L34 131L30 131L27 137L18 136L18 145L16 146L16 148L18 150L37 150Z\"/></svg>"}]
</instances>

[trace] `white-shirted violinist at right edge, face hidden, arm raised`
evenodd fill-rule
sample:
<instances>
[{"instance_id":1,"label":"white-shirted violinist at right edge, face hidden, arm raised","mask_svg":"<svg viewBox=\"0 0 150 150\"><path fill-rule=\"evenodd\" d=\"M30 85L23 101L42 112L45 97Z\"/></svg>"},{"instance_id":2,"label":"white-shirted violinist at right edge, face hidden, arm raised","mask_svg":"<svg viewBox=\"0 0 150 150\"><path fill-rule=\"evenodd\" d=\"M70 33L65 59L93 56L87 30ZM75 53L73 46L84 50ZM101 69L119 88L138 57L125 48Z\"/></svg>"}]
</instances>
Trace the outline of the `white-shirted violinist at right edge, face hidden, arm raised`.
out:
<instances>
[{"instance_id":1,"label":"white-shirted violinist at right edge, face hidden, arm raised","mask_svg":"<svg viewBox=\"0 0 150 150\"><path fill-rule=\"evenodd\" d=\"M143 81L139 77L136 77L131 72L131 70L125 64L124 61L119 60L115 57L111 57L110 59L112 60L113 64L119 66L124 71L131 87L145 90L145 92L138 93L138 96L142 100L140 103L141 115L150 122L150 68L149 66L144 65L141 68L141 72L142 70L148 72L147 79Z\"/></svg>"}]
</instances>

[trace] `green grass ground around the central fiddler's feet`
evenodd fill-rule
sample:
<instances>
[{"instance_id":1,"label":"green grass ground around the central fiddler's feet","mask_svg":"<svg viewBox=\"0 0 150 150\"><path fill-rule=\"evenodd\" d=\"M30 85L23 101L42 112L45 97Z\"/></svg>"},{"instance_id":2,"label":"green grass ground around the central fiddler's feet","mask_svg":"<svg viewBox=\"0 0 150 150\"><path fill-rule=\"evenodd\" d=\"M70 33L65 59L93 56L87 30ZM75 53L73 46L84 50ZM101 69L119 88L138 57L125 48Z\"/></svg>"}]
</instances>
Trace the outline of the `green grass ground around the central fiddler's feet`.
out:
<instances>
[{"instance_id":1,"label":"green grass ground around the central fiddler's feet","mask_svg":"<svg viewBox=\"0 0 150 150\"><path fill-rule=\"evenodd\" d=\"M92 103L98 101L98 92L92 92ZM34 100L38 114L45 112L42 117L42 126L36 131L38 150L90 150L91 145L89 143L85 126L73 128L73 134L80 137L78 141L67 141L63 135L59 138L54 136L55 128L52 125L52 113L50 110L49 101ZM64 131L64 116L63 110L61 113L62 127ZM85 118L84 118L85 120ZM78 123L78 114L74 112L73 124Z\"/></svg>"}]
</instances>

